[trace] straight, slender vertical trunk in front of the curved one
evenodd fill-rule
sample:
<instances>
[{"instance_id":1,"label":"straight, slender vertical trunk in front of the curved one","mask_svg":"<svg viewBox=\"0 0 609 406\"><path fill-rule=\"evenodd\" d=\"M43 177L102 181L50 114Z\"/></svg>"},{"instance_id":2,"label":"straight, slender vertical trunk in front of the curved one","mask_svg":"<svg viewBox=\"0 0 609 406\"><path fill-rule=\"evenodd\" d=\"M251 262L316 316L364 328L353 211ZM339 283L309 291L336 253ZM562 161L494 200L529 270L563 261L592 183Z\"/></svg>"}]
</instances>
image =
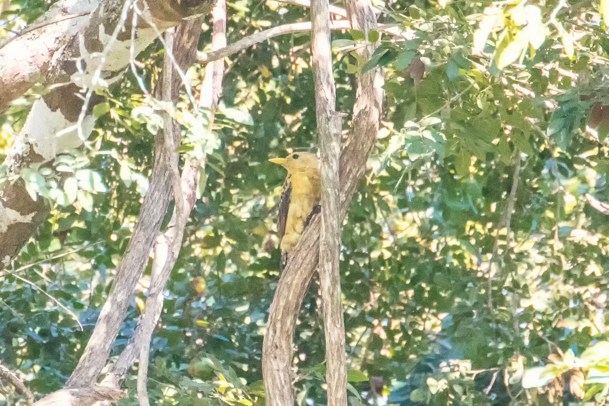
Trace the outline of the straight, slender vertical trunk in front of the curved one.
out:
<instances>
[{"instance_id":1,"label":"straight, slender vertical trunk in front of the curved one","mask_svg":"<svg viewBox=\"0 0 609 406\"><path fill-rule=\"evenodd\" d=\"M322 166L319 279L326 338L328 406L347 406L345 320L340 292L339 156L342 114L336 113L328 0L312 0L311 51Z\"/></svg>"}]
</instances>

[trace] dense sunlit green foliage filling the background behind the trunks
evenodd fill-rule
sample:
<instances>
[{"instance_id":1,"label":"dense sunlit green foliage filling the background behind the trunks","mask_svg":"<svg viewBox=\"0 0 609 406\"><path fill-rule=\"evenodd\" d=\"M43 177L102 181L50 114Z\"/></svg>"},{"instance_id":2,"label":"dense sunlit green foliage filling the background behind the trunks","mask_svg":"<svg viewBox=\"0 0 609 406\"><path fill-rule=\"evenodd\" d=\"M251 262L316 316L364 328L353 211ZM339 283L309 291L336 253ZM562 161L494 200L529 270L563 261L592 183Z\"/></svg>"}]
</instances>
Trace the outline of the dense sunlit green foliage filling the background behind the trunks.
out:
<instances>
[{"instance_id":1,"label":"dense sunlit green foliage filling the background behind the trunks","mask_svg":"<svg viewBox=\"0 0 609 406\"><path fill-rule=\"evenodd\" d=\"M380 23L403 35L370 33L381 40L370 61L351 52L363 33L334 33L337 110L352 110L359 69L384 66L387 80L384 127L342 239L354 405L606 402L609 222L584 196L607 200L606 3L378 1ZM229 43L308 20L273 0L229 6ZM0 37L46 7L0 3ZM209 40L206 23L200 46ZM231 55L211 137L197 132L188 93L178 105L184 150L209 156L152 342L157 402L264 404L284 177L267 159L315 149L309 52L303 32ZM23 173L51 215L0 273L0 359L37 394L76 366L137 219L159 125L141 85L152 88L162 55L150 47L137 76L107 90L85 149ZM204 69L188 72L195 95ZM5 152L40 91L0 116ZM296 337L298 404L325 404L315 284ZM13 404L1 384L0 404Z\"/></svg>"}]
</instances>

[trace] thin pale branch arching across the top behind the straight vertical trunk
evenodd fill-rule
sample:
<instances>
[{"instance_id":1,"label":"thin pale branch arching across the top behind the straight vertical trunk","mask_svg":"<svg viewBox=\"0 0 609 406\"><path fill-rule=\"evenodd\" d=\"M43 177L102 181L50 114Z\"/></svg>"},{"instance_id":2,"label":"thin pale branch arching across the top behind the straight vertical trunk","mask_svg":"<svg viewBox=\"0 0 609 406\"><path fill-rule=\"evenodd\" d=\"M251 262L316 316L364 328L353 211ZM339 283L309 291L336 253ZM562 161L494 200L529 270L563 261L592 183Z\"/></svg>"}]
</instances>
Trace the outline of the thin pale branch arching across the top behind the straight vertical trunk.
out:
<instances>
[{"instance_id":1,"label":"thin pale branch arching across the top behind the straight vertical trunk","mask_svg":"<svg viewBox=\"0 0 609 406\"><path fill-rule=\"evenodd\" d=\"M334 21L331 26L333 30L345 30L350 29L351 24L348 21ZM242 38L234 44L218 49L217 51L211 52L197 52L197 60L200 63L209 63L211 61L217 61L232 55L235 52L243 51L244 49L261 43L262 41L269 40L270 38L277 37L278 35L289 34L292 32L310 31L311 23L291 23L284 24L283 26L269 28L261 32L256 32L249 37Z\"/></svg>"}]
</instances>

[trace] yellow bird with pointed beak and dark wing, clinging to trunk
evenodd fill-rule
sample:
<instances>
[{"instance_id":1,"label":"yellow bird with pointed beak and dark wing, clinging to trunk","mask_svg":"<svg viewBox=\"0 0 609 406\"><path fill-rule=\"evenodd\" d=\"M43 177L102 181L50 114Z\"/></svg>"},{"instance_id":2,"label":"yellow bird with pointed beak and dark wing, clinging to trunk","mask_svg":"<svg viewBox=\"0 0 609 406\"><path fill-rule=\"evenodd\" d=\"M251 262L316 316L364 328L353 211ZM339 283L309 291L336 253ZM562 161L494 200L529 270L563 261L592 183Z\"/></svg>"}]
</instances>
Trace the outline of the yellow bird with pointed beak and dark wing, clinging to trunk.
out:
<instances>
[{"instance_id":1,"label":"yellow bird with pointed beak and dark wing, clinging to trunk","mask_svg":"<svg viewBox=\"0 0 609 406\"><path fill-rule=\"evenodd\" d=\"M287 169L283 184L277 231L280 248L294 250L312 214L320 211L322 175L317 154L294 152L286 158L271 158L270 162Z\"/></svg>"}]
</instances>

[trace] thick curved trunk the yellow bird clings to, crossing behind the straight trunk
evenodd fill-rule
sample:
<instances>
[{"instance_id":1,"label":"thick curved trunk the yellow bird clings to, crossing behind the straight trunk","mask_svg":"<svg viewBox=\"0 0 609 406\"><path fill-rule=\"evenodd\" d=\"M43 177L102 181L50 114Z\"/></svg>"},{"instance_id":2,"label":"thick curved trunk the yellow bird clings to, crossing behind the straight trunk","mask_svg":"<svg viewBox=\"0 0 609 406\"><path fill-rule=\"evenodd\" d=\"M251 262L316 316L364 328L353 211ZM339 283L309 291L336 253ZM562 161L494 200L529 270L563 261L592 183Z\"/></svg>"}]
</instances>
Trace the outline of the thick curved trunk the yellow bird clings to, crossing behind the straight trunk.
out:
<instances>
[{"instance_id":1,"label":"thick curved trunk the yellow bird clings to, crossing behind the straight trunk","mask_svg":"<svg viewBox=\"0 0 609 406\"><path fill-rule=\"evenodd\" d=\"M351 25L368 32L376 29L376 18L370 0L347 0ZM357 52L367 60L375 45L363 46ZM381 69L357 74L356 102L351 129L340 154L340 219L345 217L365 165L381 119L384 93ZM298 312L319 259L320 216L314 215L294 253L281 273L275 297L269 310L267 331L262 345L262 373L267 406L294 404L292 391L292 342Z\"/></svg>"}]
</instances>

